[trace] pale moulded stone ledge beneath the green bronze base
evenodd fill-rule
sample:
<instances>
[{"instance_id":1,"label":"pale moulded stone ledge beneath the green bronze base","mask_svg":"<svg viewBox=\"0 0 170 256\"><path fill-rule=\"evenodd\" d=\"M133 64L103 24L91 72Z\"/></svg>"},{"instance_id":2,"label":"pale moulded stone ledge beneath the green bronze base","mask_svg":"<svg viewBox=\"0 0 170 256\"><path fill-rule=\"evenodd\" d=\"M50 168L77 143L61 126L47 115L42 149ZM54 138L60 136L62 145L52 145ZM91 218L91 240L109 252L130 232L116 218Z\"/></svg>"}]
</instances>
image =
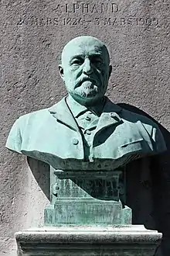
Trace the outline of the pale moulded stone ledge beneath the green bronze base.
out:
<instances>
[{"instance_id":1,"label":"pale moulded stone ledge beneath the green bronze base","mask_svg":"<svg viewBox=\"0 0 170 256\"><path fill-rule=\"evenodd\" d=\"M19 256L153 256L162 234L143 226L42 227L15 234Z\"/></svg>"}]
</instances>

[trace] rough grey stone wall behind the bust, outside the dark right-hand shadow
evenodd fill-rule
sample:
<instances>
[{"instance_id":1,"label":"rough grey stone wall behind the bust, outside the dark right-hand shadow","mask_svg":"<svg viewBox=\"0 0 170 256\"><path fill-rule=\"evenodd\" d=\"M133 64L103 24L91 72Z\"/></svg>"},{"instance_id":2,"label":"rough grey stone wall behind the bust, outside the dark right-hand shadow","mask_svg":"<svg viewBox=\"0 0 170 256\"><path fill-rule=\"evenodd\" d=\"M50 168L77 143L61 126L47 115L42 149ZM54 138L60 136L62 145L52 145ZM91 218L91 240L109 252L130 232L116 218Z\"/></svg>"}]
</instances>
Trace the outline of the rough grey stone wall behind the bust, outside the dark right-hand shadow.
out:
<instances>
[{"instance_id":1,"label":"rough grey stone wall behind the bust, outside the dark right-hand shadow","mask_svg":"<svg viewBox=\"0 0 170 256\"><path fill-rule=\"evenodd\" d=\"M15 255L15 231L43 223L48 167L28 164L5 149L5 140L18 116L66 95L57 64L68 40L104 40L113 64L107 95L139 107L170 130L169 0L77 2L0 2L0 255Z\"/></svg>"}]
</instances>

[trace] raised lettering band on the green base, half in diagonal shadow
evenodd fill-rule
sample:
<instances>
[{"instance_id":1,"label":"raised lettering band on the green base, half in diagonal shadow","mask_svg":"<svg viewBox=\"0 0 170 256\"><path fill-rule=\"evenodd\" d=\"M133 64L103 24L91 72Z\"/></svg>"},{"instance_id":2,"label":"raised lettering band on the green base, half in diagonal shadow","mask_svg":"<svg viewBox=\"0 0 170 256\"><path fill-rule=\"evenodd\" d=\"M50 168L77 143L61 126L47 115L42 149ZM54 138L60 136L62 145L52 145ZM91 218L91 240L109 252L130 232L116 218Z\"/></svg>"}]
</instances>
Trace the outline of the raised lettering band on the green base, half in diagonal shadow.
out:
<instances>
[{"instance_id":1,"label":"raised lettering band on the green base, half in diagonal shadow","mask_svg":"<svg viewBox=\"0 0 170 256\"><path fill-rule=\"evenodd\" d=\"M57 189L57 190L56 190ZM71 178L57 179L53 194L59 197L89 198L124 201L124 177L114 175L112 178Z\"/></svg>"}]
</instances>

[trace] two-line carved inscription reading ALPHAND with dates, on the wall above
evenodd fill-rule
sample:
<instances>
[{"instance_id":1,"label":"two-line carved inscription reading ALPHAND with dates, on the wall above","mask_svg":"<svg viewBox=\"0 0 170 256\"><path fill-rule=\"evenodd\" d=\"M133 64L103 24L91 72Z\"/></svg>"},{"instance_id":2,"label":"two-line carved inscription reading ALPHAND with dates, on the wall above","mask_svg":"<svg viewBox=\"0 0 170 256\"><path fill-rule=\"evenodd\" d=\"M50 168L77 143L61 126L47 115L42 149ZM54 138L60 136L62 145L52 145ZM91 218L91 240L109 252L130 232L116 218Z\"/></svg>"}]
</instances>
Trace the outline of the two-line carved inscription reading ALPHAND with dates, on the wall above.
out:
<instances>
[{"instance_id":1,"label":"two-line carved inscription reading ALPHAND with dates, on the wall above","mask_svg":"<svg viewBox=\"0 0 170 256\"><path fill-rule=\"evenodd\" d=\"M116 2L109 3L59 3L49 16L20 17L18 26L158 26L154 16L135 16L124 12Z\"/></svg>"}]
</instances>

